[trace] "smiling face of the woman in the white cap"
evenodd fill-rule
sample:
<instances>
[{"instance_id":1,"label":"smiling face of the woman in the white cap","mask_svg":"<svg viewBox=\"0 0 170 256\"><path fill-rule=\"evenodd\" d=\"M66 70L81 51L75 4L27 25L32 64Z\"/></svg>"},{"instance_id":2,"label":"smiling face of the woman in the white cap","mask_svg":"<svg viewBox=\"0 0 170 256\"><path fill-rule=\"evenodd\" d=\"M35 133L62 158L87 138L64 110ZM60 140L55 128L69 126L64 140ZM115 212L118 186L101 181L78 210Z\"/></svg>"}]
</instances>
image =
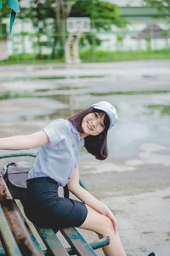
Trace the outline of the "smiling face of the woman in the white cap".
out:
<instances>
[{"instance_id":1,"label":"smiling face of the woman in the white cap","mask_svg":"<svg viewBox=\"0 0 170 256\"><path fill-rule=\"evenodd\" d=\"M85 115L82 119L82 131L80 137L87 137L88 135L99 135L105 129L105 113L92 112Z\"/></svg>"}]
</instances>

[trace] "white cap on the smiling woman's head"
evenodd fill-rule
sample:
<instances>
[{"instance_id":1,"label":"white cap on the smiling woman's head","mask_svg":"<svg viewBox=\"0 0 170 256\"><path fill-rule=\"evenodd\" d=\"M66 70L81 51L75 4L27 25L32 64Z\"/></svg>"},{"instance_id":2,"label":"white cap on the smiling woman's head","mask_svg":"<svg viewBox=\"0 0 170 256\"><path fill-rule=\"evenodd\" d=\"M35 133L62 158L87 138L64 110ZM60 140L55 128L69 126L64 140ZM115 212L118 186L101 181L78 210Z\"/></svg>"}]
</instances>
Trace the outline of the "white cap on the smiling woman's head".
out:
<instances>
[{"instance_id":1,"label":"white cap on the smiling woman's head","mask_svg":"<svg viewBox=\"0 0 170 256\"><path fill-rule=\"evenodd\" d=\"M116 113L116 108L114 106L112 106L111 103L97 102L97 103L94 103L94 105L92 105L90 107L102 110L108 115L108 117L110 119L109 130L111 129L111 127L113 125L115 125L116 120L117 120L117 113Z\"/></svg>"}]
</instances>

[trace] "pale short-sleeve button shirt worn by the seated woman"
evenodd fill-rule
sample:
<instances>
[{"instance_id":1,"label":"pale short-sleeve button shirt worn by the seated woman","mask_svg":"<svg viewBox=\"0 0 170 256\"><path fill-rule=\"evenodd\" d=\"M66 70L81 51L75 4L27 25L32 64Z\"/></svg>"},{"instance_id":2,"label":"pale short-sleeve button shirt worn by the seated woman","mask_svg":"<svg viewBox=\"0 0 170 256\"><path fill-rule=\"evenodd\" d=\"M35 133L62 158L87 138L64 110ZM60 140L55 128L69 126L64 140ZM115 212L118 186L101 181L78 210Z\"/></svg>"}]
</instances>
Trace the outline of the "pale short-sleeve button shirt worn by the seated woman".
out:
<instances>
[{"instance_id":1,"label":"pale short-sleeve button shirt worn by the seated woman","mask_svg":"<svg viewBox=\"0 0 170 256\"><path fill-rule=\"evenodd\" d=\"M50 143L39 148L28 178L51 177L65 186L75 171L84 139L67 119L55 119L42 131Z\"/></svg>"}]
</instances>

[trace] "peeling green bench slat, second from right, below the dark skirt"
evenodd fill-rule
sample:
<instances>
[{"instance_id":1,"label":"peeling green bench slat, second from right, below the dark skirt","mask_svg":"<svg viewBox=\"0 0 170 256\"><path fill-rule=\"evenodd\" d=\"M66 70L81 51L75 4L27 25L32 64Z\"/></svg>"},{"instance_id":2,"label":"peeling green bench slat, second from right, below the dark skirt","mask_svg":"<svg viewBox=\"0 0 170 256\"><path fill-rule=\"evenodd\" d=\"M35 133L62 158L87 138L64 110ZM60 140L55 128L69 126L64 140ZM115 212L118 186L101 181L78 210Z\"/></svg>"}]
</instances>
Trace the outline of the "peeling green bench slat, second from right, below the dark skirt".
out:
<instances>
[{"instance_id":1,"label":"peeling green bench slat, second from right, below the dark skirt","mask_svg":"<svg viewBox=\"0 0 170 256\"><path fill-rule=\"evenodd\" d=\"M48 248L50 253L54 253L56 256L68 256L59 238L55 235L54 230L51 229L40 229L35 225L37 232L42 238L45 246Z\"/></svg>"}]
</instances>

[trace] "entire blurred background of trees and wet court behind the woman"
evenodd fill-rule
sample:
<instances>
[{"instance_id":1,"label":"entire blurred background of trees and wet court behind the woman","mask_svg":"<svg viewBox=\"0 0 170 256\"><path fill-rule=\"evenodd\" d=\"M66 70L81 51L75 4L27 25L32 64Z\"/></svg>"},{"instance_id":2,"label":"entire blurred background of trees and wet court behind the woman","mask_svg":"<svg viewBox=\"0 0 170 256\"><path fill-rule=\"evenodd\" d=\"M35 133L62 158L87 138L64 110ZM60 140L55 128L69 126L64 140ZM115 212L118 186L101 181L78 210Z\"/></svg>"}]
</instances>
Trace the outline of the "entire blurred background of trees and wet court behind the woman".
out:
<instances>
[{"instance_id":1,"label":"entire blurred background of trees and wet court behind the woman","mask_svg":"<svg viewBox=\"0 0 170 256\"><path fill-rule=\"evenodd\" d=\"M1 137L111 102L118 121L109 158L95 160L82 149L82 180L115 213L127 255L169 255L169 1L19 3L11 35L6 1L0 10ZM84 17L88 28L69 29L68 18Z\"/></svg>"}]
</instances>

